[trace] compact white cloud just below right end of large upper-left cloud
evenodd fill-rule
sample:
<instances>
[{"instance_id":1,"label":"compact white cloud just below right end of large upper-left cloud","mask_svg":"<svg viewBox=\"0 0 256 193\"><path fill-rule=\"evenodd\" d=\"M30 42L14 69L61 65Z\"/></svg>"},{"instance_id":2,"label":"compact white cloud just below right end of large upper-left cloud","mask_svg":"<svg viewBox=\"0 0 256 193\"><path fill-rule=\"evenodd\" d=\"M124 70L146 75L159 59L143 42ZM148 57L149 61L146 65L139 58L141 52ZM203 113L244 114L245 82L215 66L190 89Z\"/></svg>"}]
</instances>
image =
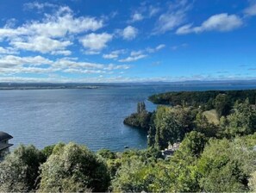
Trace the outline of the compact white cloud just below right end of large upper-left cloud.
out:
<instances>
[{"instance_id":1,"label":"compact white cloud just below right end of large upper-left cloud","mask_svg":"<svg viewBox=\"0 0 256 193\"><path fill-rule=\"evenodd\" d=\"M85 48L88 48L92 51L100 51L107 46L107 43L112 40L112 34L87 34L84 37L80 38L80 42Z\"/></svg>"}]
</instances>

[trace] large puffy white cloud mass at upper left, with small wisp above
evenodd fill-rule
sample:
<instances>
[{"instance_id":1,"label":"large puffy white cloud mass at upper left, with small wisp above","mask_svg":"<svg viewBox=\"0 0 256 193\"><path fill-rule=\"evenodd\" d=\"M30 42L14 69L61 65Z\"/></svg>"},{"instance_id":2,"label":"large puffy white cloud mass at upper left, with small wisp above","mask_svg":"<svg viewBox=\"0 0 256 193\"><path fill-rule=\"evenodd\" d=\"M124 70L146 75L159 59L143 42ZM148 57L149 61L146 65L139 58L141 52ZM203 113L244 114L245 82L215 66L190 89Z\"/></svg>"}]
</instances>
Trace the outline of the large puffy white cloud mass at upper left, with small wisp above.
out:
<instances>
[{"instance_id":1,"label":"large puffy white cloud mass at upper left, with small wisp above","mask_svg":"<svg viewBox=\"0 0 256 193\"><path fill-rule=\"evenodd\" d=\"M42 9L47 3L32 3L28 7ZM45 14L41 21L26 22L17 28L0 28L0 41L9 42L19 50L68 55L66 47L72 45L72 35L96 31L103 20L90 16L75 17L69 7L62 6L53 15Z\"/></svg>"}]
</instances>

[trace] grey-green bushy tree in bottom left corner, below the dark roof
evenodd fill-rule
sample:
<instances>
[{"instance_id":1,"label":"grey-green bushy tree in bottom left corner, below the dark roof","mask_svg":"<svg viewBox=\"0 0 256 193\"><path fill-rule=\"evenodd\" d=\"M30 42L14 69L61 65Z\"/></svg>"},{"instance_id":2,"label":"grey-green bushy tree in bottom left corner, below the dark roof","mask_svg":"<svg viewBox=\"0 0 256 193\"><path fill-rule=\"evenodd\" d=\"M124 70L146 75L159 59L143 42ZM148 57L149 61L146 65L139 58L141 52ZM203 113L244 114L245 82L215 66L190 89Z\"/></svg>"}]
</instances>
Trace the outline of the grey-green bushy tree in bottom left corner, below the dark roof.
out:
<instances>
[{"instance_id":1,"label":"grey-green bushy tree in bottom left corner, below the dark roof","mask_svg":"<svg viewBox=\"0 0 256 193\"><path fill-rule=\"evenodd\" d=\"M46 157L34 146L18 146L0 163L0 191L33 191Z\"/></svg>"}]
</instances>

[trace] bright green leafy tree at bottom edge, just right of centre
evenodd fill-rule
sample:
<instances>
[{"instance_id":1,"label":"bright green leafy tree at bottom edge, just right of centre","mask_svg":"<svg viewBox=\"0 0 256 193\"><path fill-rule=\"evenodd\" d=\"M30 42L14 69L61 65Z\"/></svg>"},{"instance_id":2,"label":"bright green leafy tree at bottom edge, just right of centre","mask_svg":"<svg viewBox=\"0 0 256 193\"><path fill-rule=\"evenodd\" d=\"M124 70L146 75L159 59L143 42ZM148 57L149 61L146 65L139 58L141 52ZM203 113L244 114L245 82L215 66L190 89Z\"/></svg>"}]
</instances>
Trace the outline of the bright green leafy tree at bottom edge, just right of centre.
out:
<instances>
[{"instance_id":1,"label":"bright green leafy tree at bottom edge, just right of centre","mask_svg":"<svg viewBox=\"0 0 256 193\"><path fill-rule=\"evenodd\" d=\"M158 161L149 170L153 180L149 190L153 192L197 192L200 178L196 158L178 151L170 161Z\"/></svg>"}]
</instances>

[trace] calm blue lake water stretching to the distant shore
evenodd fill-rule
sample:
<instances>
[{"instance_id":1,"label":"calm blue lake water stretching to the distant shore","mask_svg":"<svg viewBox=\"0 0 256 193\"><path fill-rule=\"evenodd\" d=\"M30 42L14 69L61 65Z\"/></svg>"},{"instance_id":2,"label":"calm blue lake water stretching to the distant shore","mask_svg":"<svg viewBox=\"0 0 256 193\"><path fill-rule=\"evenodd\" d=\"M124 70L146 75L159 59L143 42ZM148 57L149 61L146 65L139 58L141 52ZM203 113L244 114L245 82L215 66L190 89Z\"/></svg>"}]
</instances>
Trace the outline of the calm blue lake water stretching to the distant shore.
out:
<instances>
[{"instance_id":1,"label":"calm blue lake water stretching to the distant shore","mask_svg":"<svg viewBox=\"0 0 256 193\"><path fill-rule=\"evenodd\" d=\"M122 121L145 101L147 96L171 90L253 89L250 86L121 86L96 90L1 90L0 130L18 144L38 148L59 141L74 141L91 150L109 148L122 151L124 146L147 147L147 134L123 125Z\"/></svg>"}]
</instances>

